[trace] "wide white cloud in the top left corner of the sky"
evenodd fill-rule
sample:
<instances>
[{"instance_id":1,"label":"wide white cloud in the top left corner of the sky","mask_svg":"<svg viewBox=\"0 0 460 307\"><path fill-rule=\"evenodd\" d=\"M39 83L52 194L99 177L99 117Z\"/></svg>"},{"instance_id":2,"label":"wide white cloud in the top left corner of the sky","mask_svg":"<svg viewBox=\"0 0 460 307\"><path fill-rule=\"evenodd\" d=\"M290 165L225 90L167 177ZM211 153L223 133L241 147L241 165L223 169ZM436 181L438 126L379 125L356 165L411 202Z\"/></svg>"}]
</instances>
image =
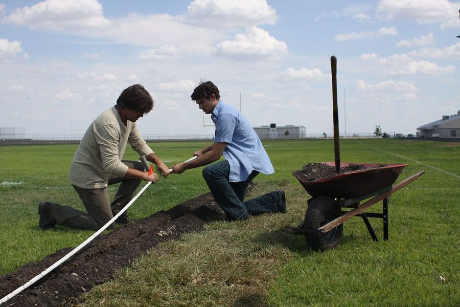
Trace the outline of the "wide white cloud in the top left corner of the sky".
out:
<instances>
[{"instance_id":1,"label":"wide white cloud in the top left corner of the sky","mask_svg":"<svg viewBox=\"0 0 460 307\"><path fill-rule=\"evenodd\" d=\"M2 23L27 26L34 30L72 30L105 28L109 20L103 16L97 0L45 0L31 7L14 10Z\"/></svg>"}]
</instances>

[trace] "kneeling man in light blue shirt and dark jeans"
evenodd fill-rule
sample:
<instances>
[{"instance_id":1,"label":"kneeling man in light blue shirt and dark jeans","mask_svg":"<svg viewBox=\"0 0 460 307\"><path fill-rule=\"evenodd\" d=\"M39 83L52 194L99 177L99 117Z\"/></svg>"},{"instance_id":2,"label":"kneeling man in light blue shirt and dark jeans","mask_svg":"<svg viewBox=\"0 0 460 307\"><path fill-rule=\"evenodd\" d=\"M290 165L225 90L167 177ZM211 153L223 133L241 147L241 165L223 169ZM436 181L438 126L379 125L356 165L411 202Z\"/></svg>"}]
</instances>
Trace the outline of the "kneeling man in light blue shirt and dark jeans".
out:
<instances>
[{"instance_id":1,"label":"kneeling man in light blue shirt and dark jeans","mask_svg":"<svg viewBox=\"0 0 460 307\"><path fill-rule=\"evenodd\" d=\"M180 174L210 164L203 169L203 178L228 220L246 220L249 215L264 212L285 213L286 196L282 190L244 201L252 179L259 173L274 172L267 152L247 119L220 100L219 89L211 81L200 83L191 97L204 113L211 114L216 125L214 144L195 151L193 155L197 159L173 165L172 173ZM213 163L222 156L225 160Z\"/></svg>"}]
</instances>

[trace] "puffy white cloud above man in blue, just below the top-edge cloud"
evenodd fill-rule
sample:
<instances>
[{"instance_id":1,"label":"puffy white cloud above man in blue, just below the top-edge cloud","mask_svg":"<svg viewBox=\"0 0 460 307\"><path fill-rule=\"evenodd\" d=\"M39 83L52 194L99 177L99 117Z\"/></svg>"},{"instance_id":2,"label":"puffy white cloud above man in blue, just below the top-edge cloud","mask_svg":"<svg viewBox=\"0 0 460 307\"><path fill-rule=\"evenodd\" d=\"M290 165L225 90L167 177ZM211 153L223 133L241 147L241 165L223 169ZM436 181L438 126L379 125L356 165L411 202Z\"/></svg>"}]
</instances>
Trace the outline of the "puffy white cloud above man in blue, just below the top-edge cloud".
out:
<instances>
[{"instance_id":1,"label":"puffy white cloud above man in blue, just below the top-edge cloud","mask_svg":"<svg viewBox=\"0 0 460 307\"><path fill-rule=\"evenodd\" d=\"M217 45L218 53L228 57L277 58L287 53L284 41L277 40L260 28L250 27L246 33L235 35L233 40L224 40Z\"/></svg>"}]
</instances>

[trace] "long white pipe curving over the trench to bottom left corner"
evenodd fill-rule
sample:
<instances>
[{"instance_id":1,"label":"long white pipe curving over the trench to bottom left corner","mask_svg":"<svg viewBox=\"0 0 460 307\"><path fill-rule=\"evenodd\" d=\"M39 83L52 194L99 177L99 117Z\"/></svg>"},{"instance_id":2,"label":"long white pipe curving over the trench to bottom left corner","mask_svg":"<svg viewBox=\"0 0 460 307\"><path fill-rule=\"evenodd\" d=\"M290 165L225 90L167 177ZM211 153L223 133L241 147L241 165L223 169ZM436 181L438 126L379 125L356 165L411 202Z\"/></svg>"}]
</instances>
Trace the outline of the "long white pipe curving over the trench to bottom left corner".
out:
<instances>
[{"instance_id":1,"label":"long white pipe curving over the trench to bottom left corner","mask_svg":"<svg viewBox=\"0 0 460 307\"><path fill-rule=\"evenodd\" d=\"M62 257L61 259L59 259L57 262L55 262L54 265L52 265L51 267L49 267L48 269L44 270L43 272L41 272L40 274L38 274L37 276L35 276L34 278L32 278L31 280L29 280L28 282L26 282L25 284L23 284L21 287L17 288L16 290L14 290L13 292L11 292L10 294L8 294L7 296L5 296L4 298L2 298L0 300L0 305L6 301L8 301L9 299L11 299L13 296L15 296L16 294L20 293L22 290L25 290L27 289L28 287L30 287L32 284L34 284L35 282L37 282L38 280L40 280L43 276L47 275L48 273L50 273L51 271L53 271L54 269L56 269L59 265L62 264L62 262L64 262L65 260L67 260L68 258L72 257L73 255L75 255L79 250L81 250L83 247L85 247L89 242L91 242L91 240L93 240L95 237L97 237L101 232L103 232L107 227L109 227L115 220L117 220L117 218L122 215L126 210L128 210L129 206L132 205L132 203L134 203L137 198L139 198L139 196L141 196L142 193L144 193L144 191L149 187L149 185L151 184L152 182L149 181L147 182L147 184L145 185L145 187L142 188L141 191L139 191L139 193L137 193L134 198L123 208L121 209L120 212L117 213L117 215L113 216L112 219L110 221L108 221L104 226L101 227L101 229L99 229L98 231L96 231L93 235L91 235L89 238L87 238L85 240L85 242L83 242L82 244L80 244L79 246L77 246L74 250L72 250L70 253L68 253L67 255L65 255L64 257Z\"/></svg>"}]
</instances>

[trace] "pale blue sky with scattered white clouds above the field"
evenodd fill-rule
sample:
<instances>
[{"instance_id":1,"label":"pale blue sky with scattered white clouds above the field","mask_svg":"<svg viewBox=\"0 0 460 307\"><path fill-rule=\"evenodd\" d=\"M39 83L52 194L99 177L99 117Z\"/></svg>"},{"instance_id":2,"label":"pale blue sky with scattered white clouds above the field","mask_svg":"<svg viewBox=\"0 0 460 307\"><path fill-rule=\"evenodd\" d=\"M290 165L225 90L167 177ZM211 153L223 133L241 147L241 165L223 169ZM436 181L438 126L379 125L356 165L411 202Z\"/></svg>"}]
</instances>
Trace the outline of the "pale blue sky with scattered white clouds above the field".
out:
<instances>
[{"instance_id":1,"label":"pale blue sky with scattered white clouds above the field","mask_svg":"<svg viewBox=\"0 0 460 307\"><path fill-rule=\"evenodd\" d=\"M0 127L79 134L142 84L143 135L212 135L213 81L252 126L415 134L460 110L460 2L0 0ZM241 97L241 98L240 98Z\"/></svg>"}]
</instances>

